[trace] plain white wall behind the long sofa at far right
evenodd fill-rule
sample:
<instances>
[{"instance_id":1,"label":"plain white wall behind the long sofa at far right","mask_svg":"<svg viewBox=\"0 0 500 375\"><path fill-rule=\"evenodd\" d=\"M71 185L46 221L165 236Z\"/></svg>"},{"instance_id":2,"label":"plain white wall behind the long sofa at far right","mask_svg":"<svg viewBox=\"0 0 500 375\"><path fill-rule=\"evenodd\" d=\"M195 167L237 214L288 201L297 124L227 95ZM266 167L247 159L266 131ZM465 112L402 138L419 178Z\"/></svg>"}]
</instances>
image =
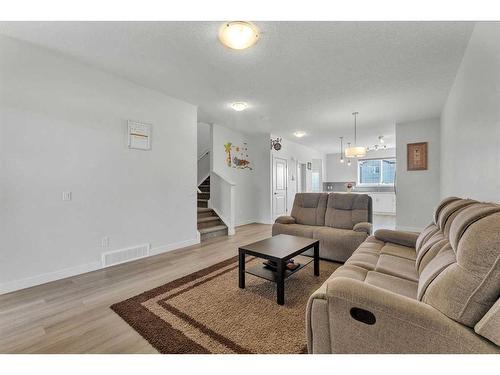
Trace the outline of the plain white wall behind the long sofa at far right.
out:
<instances>
[{"instance_id":1,"label":"plain white wall behind the long sofa at far right","mask_svg":"<svg viewBox=\"0 0 500 375\"><path fill-rule=\"evenodd\" d=\"M477 23L441 115L441 197L500 202L500 24Z\"/></svg>"}]
</instances>

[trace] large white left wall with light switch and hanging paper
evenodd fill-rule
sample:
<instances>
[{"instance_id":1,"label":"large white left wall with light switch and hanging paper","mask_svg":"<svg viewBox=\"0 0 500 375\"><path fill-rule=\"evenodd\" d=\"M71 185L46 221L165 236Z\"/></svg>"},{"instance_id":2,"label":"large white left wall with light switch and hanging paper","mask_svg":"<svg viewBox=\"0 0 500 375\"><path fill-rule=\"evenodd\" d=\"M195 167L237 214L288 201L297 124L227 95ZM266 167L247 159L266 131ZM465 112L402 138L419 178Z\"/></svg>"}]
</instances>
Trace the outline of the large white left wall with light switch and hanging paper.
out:
<instances>
[{"instance_id":1,"label":"large white left wall with light switch and hanging paper","mask_svg":"<svg viewBox=\"0 0 500 375\"><path fill-rule=\"evenodd\" d=\"M153 124L151 151L127 148L129 119ZM103 251L196 243L196 122L193 105L0 36L0 292L99 268Z\"/></svg>"}]
</instances>

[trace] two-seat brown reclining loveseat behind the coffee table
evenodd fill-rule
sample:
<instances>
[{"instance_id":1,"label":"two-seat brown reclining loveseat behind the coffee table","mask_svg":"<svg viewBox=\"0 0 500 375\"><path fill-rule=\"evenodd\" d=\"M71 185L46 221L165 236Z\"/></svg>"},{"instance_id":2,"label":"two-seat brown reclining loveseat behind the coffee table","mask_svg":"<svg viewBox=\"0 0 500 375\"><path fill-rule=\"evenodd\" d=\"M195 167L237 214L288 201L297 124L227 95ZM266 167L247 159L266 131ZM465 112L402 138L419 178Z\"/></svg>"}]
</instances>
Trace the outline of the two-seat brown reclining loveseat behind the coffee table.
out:
<instances>
[{"instance_id":1,"label":"two-seat brown reclining loveseat behind the coffee table","mask_svg":"<svg viewBox=\"0 0 500 375\"><path fill-rule=\"evenodd\" d=\"M366 194L298 193L291 216L277 218L272 233L319 239L321 258L345 262L371 234L371 222Z\"/></svg>"}]
</instances>

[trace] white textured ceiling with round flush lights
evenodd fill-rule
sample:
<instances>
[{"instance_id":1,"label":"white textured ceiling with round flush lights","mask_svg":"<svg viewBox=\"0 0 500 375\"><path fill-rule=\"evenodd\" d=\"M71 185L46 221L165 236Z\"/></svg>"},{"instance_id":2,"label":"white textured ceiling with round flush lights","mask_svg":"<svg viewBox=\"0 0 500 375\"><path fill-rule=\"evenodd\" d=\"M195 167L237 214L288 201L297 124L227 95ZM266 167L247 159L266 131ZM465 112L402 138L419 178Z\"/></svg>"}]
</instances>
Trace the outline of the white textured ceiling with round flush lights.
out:
<instances>
[{"instance_id":1,"label":"white textured ceiling with round flush lights","mask_svg":"<svg viewBox=\"0 0 500 375\"><path fill-rule=\"evenodd\" d=\"M1 22L0 33L57 50L199 106L199 121L293 137L338 152L339 136L378 135L439 116L471 22L255 22L258 43L233 51L221 22ZM234 112L232 101L250 108Z\"/></svg>"}]
</instances>

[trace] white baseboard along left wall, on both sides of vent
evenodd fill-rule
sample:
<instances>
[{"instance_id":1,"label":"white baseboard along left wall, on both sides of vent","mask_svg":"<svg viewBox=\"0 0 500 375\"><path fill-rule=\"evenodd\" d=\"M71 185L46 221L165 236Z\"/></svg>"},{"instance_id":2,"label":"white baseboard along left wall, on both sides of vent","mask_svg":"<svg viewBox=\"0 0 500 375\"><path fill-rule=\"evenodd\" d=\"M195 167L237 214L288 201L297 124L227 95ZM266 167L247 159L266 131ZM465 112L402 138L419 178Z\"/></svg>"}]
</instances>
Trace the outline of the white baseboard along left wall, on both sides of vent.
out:
<instances>
[{"instance_id":1,"label":"white baseboard along left wall, on both sides of vent","mask_svg":"<svg viewBox=\"0 0 500 375\"><path fill-rule=\"evenodd\" d=\"M200 234L198 233L197 238L193 238L186 241L180 241L171 243L164 246L158 246L150 250L149 256L158 255L162 253L166 253L172 250L177 250L183 247L192 246L200 243ZM141 258L144 259L144 258ZM133 262L134 259L131 260ZM91 263L82 264L75 267L64 268L62 270L43 273L41 275L31 276L24 279L9 281L3 284L0 284L0 295L5 293L14 292L16 290L30 288L32 286L41 285L45 283L49 283L51 281L65 279L67 277L81 275L83 273L96 271L103 268L102 262L96 261Z\"/></svg>"}]
</instances>

